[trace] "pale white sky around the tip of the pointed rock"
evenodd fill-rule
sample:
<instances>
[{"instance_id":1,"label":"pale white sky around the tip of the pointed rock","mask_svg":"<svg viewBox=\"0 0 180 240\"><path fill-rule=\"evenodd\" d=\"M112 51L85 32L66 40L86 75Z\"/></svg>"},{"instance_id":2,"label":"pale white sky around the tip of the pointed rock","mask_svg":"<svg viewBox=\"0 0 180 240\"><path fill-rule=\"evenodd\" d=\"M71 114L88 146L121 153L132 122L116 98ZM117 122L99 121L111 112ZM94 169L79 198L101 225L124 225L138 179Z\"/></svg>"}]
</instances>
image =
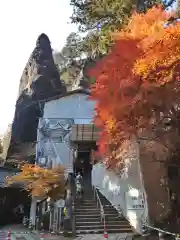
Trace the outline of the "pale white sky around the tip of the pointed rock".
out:
<instances>
[{"instance_id":1,"label":"pale white sky around the tip of the pointed rock","mask_svg":"<svg viewBox=\"0 0 180 240\"><path fill-rule=\"evenodd\" d=\"M14 116L20 77L35 47L46 33L53 49L61 49L76 26L68 24L69 0L0 0L0 134Z\"/></svg>"}]
</instances>

